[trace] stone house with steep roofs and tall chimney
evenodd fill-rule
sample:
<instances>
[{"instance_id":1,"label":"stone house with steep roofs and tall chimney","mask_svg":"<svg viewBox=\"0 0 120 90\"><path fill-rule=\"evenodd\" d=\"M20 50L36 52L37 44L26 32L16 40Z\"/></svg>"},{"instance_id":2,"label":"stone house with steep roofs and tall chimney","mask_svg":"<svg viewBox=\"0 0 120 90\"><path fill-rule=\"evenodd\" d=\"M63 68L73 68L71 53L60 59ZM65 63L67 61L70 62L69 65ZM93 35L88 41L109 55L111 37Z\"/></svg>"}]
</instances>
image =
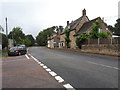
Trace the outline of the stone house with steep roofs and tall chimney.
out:
<instances>
[{"instance_id":1,"label":"stone house with steep roofs and tall chimney","mask_svg":"<svg viewBox=\"0 0 120 90\"><path fill-rule=\"evenodd\" d=\"M90 34L90 32L92 30L92 26L96 22L96 20L101 21L99 32L110 32L107 28L107 24L104 23L104 21L100 17L95 18L93 20L89 20L89 18L86 15L86 10L85 9L82 11L82 16L81 17L79 17L75 21L72 21L71 23L69 23L69 21L67 21L67 26L65 27L64 31L67 30L67 29L70 30L69 38L71 40L70 41L70 48L71 49L76 49L76 47L77 47L76 46L76 38L77 38L78 35L80 35L80 34ZM63 32L59 31L59 34L58 35L56 34L56 36L59 37L59 41L58 41L59 48L65 48L66 47L64 31Z\"/></svg>"}]
</instances>

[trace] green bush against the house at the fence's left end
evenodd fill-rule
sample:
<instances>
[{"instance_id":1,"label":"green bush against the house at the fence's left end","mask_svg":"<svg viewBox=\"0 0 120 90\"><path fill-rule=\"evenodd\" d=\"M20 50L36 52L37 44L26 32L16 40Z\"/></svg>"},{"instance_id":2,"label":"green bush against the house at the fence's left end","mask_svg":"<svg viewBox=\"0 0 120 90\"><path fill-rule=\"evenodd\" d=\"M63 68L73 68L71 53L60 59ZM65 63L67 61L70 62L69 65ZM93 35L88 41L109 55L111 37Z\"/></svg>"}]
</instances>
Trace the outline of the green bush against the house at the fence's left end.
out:
<instances>
[{"instance_id":1,"label":"green bush against the house at the fence's left end","mask_svg":"<svg viewBox=\"0 0 120 90\"><path fill-rule=\"evenodd\" d=\"M80 35L76 38L76 45L77 45L79 48L81 48L82 43L83 43L85 40L87 40L87 39L89 39L89 35L87 35L87 34L80 34Z\"/></svg>"}]
</instances>

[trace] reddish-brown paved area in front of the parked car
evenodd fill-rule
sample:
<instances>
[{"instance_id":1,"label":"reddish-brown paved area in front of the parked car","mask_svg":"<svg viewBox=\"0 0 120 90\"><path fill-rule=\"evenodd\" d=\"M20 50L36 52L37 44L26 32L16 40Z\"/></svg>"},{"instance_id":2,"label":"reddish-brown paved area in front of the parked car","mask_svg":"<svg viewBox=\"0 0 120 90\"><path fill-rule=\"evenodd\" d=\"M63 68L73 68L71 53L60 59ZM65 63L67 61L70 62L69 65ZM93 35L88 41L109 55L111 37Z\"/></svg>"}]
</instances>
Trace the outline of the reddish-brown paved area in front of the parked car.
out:
<instances>
[{"instance_id":1,"label":"reddish-brown paved area in front of the parked car","mask_svg":"<svg viewBox=\"0 0 120 90\"><path fill-rule=\"evenodd\" d=\"M65 90L30 55L2 58L2 88L61 88Z\"/></svg>"}]
</instances>

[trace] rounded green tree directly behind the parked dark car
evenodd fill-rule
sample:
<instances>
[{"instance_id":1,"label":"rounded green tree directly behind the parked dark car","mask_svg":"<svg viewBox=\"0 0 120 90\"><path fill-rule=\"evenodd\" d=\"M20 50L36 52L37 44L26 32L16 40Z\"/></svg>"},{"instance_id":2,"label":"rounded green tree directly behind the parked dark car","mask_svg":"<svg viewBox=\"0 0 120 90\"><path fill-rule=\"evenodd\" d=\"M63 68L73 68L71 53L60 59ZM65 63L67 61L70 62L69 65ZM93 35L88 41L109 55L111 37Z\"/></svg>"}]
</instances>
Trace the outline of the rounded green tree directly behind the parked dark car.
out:
<instances>
[{"instance_id":1,"label":"rounded green tree directly behind the parked dark car","mask_svg":"<svg viewBox=\"0 0 120 90\"><path fill-rule=\"evenodd\" d=\"M25 39L25 34L22 32L22 28L14 27L8 35L8 38L13 39L15 45L22 44Z\"/></svg>"}]
</instances>

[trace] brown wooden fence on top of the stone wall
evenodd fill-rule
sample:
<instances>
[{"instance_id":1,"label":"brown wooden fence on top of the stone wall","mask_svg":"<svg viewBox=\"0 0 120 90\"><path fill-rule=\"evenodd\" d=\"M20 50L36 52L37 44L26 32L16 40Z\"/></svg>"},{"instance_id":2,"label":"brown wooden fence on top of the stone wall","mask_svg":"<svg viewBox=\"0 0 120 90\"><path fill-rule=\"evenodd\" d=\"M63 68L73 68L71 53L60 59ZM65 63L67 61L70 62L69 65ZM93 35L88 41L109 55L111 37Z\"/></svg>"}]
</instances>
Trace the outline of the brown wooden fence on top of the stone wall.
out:
<instances>
[{"instance_id":1,"label":"brown wooden fence on top of the stone wall","mask_svg":"<svg viewBox=\"0 0 120 90\"><path fill-rule=\"evenodd\" d=\"M88 44L120 44L120 37L114 37L114 38L98 38L98 39L90 39L86 40L82 45L88 45Z\"/></svg>"}]
</instances>

